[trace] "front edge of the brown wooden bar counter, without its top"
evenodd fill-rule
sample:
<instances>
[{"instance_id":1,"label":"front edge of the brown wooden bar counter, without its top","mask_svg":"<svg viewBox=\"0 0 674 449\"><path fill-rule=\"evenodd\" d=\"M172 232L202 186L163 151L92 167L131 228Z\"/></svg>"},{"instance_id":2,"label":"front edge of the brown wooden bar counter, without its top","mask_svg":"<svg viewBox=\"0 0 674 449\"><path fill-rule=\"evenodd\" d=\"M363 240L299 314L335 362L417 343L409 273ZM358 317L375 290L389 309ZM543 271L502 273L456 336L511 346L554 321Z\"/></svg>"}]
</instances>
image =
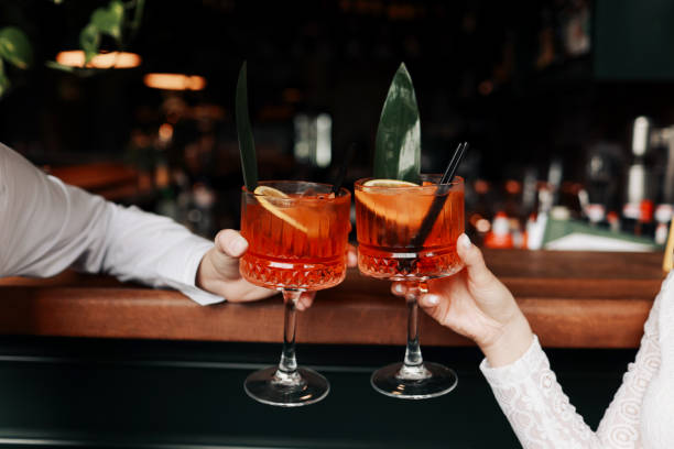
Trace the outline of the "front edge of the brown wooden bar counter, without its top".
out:
<instances>
[{"instance_id":1,"label":"front edge of the brown wooden bar counter, without its top","mask_svg":"<svg viewBox=\"0 0 674 449\"><path fill-rule=\"evenodd\" d=\"M606 281L605 281L606 282ZM659 283L639 297L536 297L518 300L546 347L637 348ZM517 282L515 282L517 284ZM149 288L3 286L0 333L88 338L280 342L279 298L199 306L182 294ZM374 292L334 292L298 319L297 341L404 344L404 303ZM422 314L422 346L472 342Z\"/></svg>"}]
</instances>

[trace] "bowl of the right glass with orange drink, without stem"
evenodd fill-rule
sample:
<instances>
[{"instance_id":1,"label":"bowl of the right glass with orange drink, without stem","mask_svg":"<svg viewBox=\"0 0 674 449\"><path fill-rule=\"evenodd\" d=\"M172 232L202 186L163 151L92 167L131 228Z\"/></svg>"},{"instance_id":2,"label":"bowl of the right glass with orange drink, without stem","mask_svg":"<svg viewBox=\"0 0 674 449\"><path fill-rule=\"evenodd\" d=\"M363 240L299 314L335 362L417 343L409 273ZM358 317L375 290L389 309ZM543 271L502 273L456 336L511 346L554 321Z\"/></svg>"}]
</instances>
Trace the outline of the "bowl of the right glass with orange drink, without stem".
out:
<instances>
[{"instance_id":1,"label":"bowl of the right glass with orange drink, without stem","mask_svg":"<svg viewBox=\"0 0 674 449\"><path fill-rule=\"evenodd\" d=\"M456 239L464 232L464 180L456 177L438 194L437 175L424 175L423 185L367 186L356 183L358 267L362 274L394 281L425 281L463 269ZM436 198L439 197L439 198ZM441 208L428 233L424 217L435 201Z\"/></svg>"}]
</instances>

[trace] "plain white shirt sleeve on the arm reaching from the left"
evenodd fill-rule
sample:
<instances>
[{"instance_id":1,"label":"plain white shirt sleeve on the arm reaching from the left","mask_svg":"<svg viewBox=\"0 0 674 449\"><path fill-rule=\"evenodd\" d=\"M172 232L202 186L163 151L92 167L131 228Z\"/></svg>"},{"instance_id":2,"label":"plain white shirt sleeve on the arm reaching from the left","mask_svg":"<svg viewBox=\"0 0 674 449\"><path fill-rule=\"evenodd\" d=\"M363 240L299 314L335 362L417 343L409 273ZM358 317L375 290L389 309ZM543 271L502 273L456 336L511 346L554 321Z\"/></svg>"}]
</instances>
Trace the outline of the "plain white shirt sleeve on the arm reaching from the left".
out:
<instances>
[{"instance_id":1,"label":"plain white shirt sleeve on the arm reaching from the left","mask_svg":"<svg viewBox=\"0 0 674 449\"><path fill-rule=\"evenodd\" d=\"M195 286L211 247L166 217L47 176L0 144L0 277L46 277L74 267L175 288L207 305L224 300Z\"/></svg>"}]
</instances>

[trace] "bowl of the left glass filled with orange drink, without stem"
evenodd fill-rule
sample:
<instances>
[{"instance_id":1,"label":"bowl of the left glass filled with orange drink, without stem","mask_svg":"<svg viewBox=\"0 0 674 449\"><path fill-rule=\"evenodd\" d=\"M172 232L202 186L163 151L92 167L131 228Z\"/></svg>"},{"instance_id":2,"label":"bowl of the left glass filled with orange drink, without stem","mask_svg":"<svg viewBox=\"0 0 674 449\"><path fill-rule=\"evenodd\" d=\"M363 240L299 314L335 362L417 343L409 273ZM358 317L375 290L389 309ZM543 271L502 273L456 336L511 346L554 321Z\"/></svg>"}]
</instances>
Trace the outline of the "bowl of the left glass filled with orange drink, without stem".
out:
<instances>
[{"instance_id":1,"label":"bowl of the left glass filled with orange drink, without stem","mask_svg":"<svg viewBox=\"0 0 674 449\"><path fill-rule=\"evenodd\" d=\"M262 287L317 291L346 275L350 193L306 182L261 182L243 187L241 234L248 251L242 276Z\"/></svg>"}]
</instances>

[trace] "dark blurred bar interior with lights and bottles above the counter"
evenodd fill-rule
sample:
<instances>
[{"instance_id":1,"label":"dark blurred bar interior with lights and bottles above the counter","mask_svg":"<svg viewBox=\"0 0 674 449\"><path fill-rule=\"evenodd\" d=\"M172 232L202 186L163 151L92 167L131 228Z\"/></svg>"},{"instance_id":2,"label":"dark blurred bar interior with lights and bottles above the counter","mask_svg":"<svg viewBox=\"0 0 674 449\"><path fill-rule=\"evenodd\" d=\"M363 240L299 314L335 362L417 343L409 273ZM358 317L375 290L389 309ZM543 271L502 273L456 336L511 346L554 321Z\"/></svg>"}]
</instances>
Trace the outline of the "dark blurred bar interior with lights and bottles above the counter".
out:
<instances>
[{"instance_id":1,"label":"dark blurred bar interior with lights and bottles above the counter","mask_svg":"<svg viewBox=\"0 0 674 449\"><path fill-rule=\"evenodd\" d=\"M379 114L405 62L423 169L471 144L459 174L478 242L649 251L666 239L671 2L135 0L124 3L123 45L102 35L100 51L133 53L138 66L53 68L111 4L0 3L0 29L23 30L34 53L26 70L4 65L0 140L66 182L206 237L238 228L244 59L260 176L330 182L355 145L349 186L371 175Z\"/></svg>"}]
</instances>

